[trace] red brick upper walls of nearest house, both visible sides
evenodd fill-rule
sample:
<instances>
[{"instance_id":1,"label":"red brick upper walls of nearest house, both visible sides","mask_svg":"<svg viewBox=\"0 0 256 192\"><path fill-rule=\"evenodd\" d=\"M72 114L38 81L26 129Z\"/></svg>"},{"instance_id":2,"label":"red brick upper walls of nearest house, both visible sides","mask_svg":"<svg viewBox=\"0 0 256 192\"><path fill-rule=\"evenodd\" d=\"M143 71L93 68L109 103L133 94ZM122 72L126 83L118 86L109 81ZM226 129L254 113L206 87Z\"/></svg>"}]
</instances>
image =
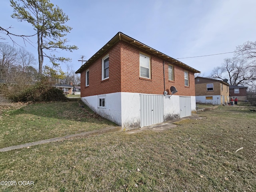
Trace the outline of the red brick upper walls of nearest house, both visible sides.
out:
<instances>
[{"instance_id":1,"label":"red brick upper walls of nearest house, both visible sides","mask_svg":"<svg viewBox=\"0 0 256 192\"><path fill-rule=\"evenodd\" d=\"M151 78L140 78L140 53L150 56ZM102 58L109 54L109 79L101 80ZM165 61L165 90L175 86L180 96L195 96L194 73L189 73L189 86L185 86L183 68L174 66L174 81L168 80L168 63ZM85 70L87 70L86 68ZM120 74L122 73L122 76ZM89 66L89 86L85 86L85 71L81 73L81 97L113 92L164 94L163 60L150 52L140 50L127 42L118 42Z\"/></svg>"}]
</instances>

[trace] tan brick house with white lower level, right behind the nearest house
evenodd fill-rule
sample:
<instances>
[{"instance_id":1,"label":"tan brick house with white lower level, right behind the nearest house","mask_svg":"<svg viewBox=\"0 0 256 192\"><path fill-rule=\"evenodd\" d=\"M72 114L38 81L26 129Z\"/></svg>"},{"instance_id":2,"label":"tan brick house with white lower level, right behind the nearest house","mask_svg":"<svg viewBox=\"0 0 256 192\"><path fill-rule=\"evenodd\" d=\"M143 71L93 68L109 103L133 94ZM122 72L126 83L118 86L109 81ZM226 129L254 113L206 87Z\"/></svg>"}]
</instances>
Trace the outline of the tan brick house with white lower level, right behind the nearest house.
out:
<instances>
[{"instance_id":1,"label":"tan brick house with white lower level, right behind the nearest house","mask_svg":"<svg viewBox=\"0 0 256 192\"><path fill-rule=\"evenodd\" d=\"M227 82L196 77L196 102L204 104L222 105L229 103L229 84Z\"/></svg>"}]
</instances>

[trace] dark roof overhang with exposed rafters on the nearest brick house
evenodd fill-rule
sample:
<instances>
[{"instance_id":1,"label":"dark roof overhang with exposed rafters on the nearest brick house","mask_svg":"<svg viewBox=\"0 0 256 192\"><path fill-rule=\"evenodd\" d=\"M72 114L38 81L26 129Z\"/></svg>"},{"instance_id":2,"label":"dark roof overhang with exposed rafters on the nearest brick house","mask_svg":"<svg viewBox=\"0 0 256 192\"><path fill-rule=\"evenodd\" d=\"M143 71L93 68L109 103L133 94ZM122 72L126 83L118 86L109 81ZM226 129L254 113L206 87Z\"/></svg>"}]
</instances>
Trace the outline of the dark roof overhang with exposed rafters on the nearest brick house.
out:
<instances>
[{"instance_id":1,"label":"dark roof overhang with exposed rafters on the nearest brick house","mask_svg":"<svg viewBox=\"0 0 256 192\"><path fill-rule=\"evenodd\" d=\"M188 70L188 71L191 71L191 72L194 72L194 73L200 73L200 71L166 55L166 54L163 54L129 36L127 36L126 34L123 34L122 32L118 32L107 44L105 44L100 50L98 50L98 52L96 52L90 59L87 60L86 63L84 63L77 71L76 73L82 73L84 71L84 69L86 69L90 64L92 64L96 59L98 59L100 56L102 56L102 54L104 52L106 52L108 49L110 49L112 46L114 46L117 42L119 41L125 41L125 42L128 42L142 50L145 50L147 52L150 52L160 58L162 58L164 61L168 61L172 64L175 64L175 65L178 65L178 66L181 66L182 68Z\"/></svg>"}]
</instances>

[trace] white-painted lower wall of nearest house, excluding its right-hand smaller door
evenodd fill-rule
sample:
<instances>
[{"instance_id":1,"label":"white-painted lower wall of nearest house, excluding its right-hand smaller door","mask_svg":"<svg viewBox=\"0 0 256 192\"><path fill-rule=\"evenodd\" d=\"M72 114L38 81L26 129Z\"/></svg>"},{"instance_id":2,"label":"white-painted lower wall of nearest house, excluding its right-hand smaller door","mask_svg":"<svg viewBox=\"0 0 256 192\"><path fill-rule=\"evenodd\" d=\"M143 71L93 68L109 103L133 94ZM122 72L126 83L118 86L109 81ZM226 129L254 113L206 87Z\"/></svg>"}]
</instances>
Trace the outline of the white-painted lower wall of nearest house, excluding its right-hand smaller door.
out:
<instances>
[{"instance_id":1,"label":"white-painted lower wall of nearest house, excluding its right-hand smaller door","mask_svg":"<svg viewBox=\"0 0 256 192\"><path fill-rule=\"evenodd\" d=\"M81 100L100 116L127 130L180 118L180 96L169 96L118 92L82 97ZM100 104L102 98L104 104ZM195 111L196 97L188 98L191 100L190 110Z\"/></svg>"}]
</instances>

